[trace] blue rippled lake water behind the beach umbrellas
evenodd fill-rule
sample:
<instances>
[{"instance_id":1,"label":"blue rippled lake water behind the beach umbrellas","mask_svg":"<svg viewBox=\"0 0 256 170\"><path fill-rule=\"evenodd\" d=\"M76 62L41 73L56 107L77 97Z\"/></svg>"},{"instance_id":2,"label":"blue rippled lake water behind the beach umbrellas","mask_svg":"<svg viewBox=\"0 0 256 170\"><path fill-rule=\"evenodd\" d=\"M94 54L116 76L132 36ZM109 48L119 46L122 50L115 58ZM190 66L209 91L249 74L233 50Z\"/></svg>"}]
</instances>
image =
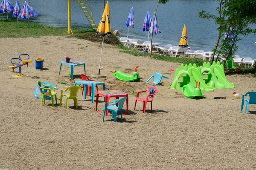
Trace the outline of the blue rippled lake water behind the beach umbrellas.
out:
<instances>
[{"instance_id":1,"label":"blue rippled lake water behind the beach umbrellas","mask_svg":"<svg viewBox=\"0 0 256 170\"><path fill-rule=\"evenodd\" d=\"M16 0L9 0L15 5ZM20 7L25 0L19 0ZM93 11L93 20L96 25L103 13L103 0L88 0ZM107 0L105 0L107 2ZM38 12L39 16L29 19L30 23L40 23L47 26L67 28L67 0L31 0L30 5ZM121 37L127 37L128 27L125 27L131 7L134 7L134 28L129 29L129 37L148 40L148 32L141 31L147 11L153 17L157 0L109 0L111 11L111 30L118 29ZM206 10L216 14L218 4L212 0L170 0L160 4L157 9L157 20L162 33L154 35L153 42L179 45L184 24L188 33L188 43L191 50L204 49L211 51L218 37L218 25L214 20L203 20L198 17L198 12ZM9 14L9 19L16 20ZM6 14L0 14L0 19L7 19ZM77 0L71 0L71 23L72 29L90 29L91 26L84 16ZM26 20L19 19L21 22ZM238 43L240 57L256 59L256 35L242 36Z\"/></svg>"}]
</instances>

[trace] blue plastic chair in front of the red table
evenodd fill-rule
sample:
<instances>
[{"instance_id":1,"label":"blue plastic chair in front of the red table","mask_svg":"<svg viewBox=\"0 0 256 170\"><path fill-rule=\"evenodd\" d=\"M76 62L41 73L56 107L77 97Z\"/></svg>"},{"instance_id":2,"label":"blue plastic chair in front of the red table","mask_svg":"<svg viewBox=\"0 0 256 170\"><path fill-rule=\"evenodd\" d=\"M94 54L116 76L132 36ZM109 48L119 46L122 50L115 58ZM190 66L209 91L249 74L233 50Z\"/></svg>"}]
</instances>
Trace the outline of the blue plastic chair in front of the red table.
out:
<instances>
[{"instance_id":1,"label":"blue plastic chair in front of the red table","mask_svg":"<svg viewBox=\"0 0 256 170\"><path fill-rule=\"evenodd\" d=\"M104 112L103 112L103 118L102 121L104 121L104 117L105 117L105 112L106 110L109 110L112 112L112 118L114 118L114 122L116 122L116 115L117 112L120 111L121 114L121 121L122 121L122 107L126 101L127 97L121 98L121 99L116 99L115 103L105 103L105 108L104 108ZM112 104L111 106L108 106L108 104ZM116 104L118 104L118 106L116 106Z\"/></svg>"}]
</instances>

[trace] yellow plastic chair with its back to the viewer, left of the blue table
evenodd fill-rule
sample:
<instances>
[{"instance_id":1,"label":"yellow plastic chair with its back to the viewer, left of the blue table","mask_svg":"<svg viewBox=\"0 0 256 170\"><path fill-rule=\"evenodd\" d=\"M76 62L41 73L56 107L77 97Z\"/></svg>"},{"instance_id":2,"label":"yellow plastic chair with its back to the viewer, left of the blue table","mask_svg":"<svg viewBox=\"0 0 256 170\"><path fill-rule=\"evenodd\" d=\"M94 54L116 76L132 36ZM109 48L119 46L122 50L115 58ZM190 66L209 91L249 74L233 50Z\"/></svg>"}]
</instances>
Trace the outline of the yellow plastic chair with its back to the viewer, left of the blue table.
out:
<instances>
[{"instance_id":1,"label":"yellow plastic chair with its back to the viewer, left of the blue table","mask_svg":"<svg viewBox=\"0 0 256 170\"><path fill-rule=\"evenodd\" d=\"M60 100L60 107L61 107L61 101L62 97L64 96L66 98L66 109L68 106L68 99L74 99L74 106L76 106L77 109L77 92L81 90L82 88L80 86L70 86L65 90L61 90L61 100ZM67 90L70 91L69 94L63 94L63 92L67 92Z\"/></svg>"}]
</instances>

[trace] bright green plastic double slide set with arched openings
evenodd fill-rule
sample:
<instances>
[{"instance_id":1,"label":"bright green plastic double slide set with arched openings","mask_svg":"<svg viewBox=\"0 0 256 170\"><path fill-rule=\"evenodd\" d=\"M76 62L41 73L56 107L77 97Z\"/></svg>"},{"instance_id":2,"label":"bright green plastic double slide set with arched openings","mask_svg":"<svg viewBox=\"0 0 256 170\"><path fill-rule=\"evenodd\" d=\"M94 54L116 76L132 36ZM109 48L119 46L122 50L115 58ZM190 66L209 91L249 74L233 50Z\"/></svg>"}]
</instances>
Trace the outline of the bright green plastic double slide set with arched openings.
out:
<instances>
[{"instance_id":1,"label":"bright green plastic double slide set with arched openings","mask_svg":"<svg viewBox=\"0 0 256 170\"><path fill-rule=\"evenodd\" d=\"M180 65L175 71L175 78L171 89L182 90L187 84L196 85L196 81L201 81L201 92L211 92L217 89L233 89L235 86L227 81L224 73L224 67L220 62L204 62L203 66L197 67L196 64Z\"/></svg>"}]
</instances>

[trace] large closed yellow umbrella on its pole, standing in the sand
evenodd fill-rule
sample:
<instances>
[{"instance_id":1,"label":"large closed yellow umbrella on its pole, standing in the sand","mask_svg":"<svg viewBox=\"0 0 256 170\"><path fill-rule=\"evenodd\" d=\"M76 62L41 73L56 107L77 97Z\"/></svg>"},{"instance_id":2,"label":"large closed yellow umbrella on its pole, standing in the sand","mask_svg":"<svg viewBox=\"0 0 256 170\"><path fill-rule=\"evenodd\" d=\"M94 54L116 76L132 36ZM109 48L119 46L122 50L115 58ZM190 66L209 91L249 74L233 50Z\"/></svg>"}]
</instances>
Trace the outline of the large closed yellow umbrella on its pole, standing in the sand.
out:
<instances>
[{"instance_id":1,"label":"large closed yellow umbrella on its pole, standing in the sand","mask_svg":"<svg viewBox=\"0 0 256 170\"><path fill-rule=\"evenodd\" d=\"M109 10L108 2L105 6L102 19L99 22L99 26L96 31L96 34L99 34L100 36L102 36L102 50L103 50L104 37L107 38L111 36L110 10ZM101 66L101 59L102 59L102 50L101 50L100 61L99 61L99 73L100 73L100 66Z\"/></svg>"}]
</instances>

